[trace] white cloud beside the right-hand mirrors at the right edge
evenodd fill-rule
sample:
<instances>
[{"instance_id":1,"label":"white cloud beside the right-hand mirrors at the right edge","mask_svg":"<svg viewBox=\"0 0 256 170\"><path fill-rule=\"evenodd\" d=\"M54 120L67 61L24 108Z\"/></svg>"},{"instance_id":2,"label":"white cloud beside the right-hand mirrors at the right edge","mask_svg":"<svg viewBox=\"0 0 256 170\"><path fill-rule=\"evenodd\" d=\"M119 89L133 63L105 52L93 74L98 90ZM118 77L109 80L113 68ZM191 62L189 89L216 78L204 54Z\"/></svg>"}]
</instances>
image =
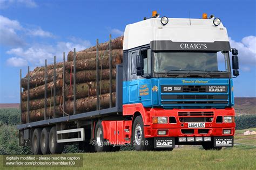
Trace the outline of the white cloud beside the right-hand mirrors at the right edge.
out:
<instances>
[{"instance_id":1,"label":"white cloud beside the right-hand mirrors at the right edge","mask_svg":"<svg viewBox=\"0 0 256 170\"><path fill-rule=\"evenodd\" d=\"M241 68L256 66L256 37L248 36L242 38L240 42L234 41L230 38L230 45L232 48L238 49L239 63ZM246 68L247 67L247 68Z\"/></svg>"}]
</instances>

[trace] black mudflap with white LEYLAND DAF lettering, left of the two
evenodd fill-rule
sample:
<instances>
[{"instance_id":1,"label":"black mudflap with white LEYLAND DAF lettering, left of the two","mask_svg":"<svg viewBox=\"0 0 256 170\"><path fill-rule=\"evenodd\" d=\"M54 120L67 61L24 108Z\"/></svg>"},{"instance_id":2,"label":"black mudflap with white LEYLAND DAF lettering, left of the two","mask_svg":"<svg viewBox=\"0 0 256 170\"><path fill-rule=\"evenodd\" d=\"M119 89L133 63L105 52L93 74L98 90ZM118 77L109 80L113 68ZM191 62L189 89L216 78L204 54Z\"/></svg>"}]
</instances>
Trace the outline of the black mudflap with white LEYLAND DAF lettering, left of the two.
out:
<instances>
[{"instance_id":1,"label":"black mudflap with white LEYLAND DAF lettering, left of the two","mask_svg":"<svg viewBox=\"0 0 256 170\"><path fill-rule=\"evenodd\" d=\"M175 138L172 137L156 137L154 138L154 148L174 148Z\"/></svg>"}]
</instances>

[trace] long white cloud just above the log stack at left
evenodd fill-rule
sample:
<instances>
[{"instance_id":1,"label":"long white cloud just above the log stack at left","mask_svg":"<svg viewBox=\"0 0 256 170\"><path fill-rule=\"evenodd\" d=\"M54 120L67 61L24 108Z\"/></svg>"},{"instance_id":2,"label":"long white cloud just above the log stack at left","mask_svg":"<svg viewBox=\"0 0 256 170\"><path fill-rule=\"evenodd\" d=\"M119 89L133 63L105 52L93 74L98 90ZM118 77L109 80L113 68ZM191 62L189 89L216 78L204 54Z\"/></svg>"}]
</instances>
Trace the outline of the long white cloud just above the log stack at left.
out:
<instances>
[{"instance_id":1,"label":"long white cloud just above the log stack at left","mask_svg":"<svg viewBox=\"0 0 256 170\"><path fill-rule=\"evenodd\" d=\"M15 58L23 59L26 61L26 63L30 63L30 65L33 67L44 65L45 59L48 60L48 63L52 63L53 56L56 56L57 61L62 61L63 52L65 52L67 55L68 52L73 48L80 51L90 46L90 41L73 37L71 41L59 41L56 45L36 44L29 48L12 48L6 53L14 55ZM11 62L14 62L14 64L10 64ZM14 60L8 60L7 63L11 66L19 67L16 65Z\"/></svg>"}]
</instances>

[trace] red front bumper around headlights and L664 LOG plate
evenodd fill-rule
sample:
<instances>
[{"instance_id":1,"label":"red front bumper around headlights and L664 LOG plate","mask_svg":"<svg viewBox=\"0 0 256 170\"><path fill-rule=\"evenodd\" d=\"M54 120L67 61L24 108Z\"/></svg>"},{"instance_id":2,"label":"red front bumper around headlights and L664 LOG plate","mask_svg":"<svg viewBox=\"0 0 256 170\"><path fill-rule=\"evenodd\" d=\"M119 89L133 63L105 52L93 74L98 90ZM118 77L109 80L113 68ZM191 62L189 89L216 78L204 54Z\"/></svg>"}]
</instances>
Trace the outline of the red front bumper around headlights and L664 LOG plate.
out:
<instances>
[{"instance_id":1,"label":"red front bumper around headlights and L664 LOG plate","mask_svg":"<svg viewBox=\"0 0 256 170\"><path fill-rule=\"evenodd\" d=\"M205 128L188 128L188 122L180 122L178 113L182 112L213 112L212 122L205 122ZM144 126L146 138L151 137L204 137L204 136L233 136L235 123L216 123L218 116L234 116L233 108L226 109L157 109L148 111L147 123ZM153 124L152 117L167 117L166 124ZM170 123L170 117L176 118L176 123ZM193 116L188 116L193 118ZM223 134L223 130L231 130L230 134ZM165 135L159 135L158 130L166 130ZM189 130L187 133L186 131Z\"/></svg>"}]
</instances>

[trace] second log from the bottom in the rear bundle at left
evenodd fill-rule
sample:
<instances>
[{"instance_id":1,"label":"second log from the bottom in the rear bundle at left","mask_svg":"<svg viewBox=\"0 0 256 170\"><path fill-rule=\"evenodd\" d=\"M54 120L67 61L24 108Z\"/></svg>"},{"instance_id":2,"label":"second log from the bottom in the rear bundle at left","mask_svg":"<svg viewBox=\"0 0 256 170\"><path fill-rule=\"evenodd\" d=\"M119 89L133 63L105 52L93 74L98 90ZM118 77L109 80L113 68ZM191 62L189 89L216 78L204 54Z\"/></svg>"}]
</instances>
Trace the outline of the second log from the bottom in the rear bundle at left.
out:
<instances>
[{"instance_id":1,"label":"second log from the bottom in the rear bundle at left","mask_svg":"<svg viewBox=\"0 0 256 170\"><path fill-rule=\"evenodd\" d=\"M56 105L63 103L62 100L62 96L56 96ZM22 112L27 111L27 104L27 101L22 102ZM30 110L42 109L44 108L44 98L31 100L29 101L29 105ZM46 98L46 107L50 106L53 107L53 96Z\"/></svg>"}]
</instances>

